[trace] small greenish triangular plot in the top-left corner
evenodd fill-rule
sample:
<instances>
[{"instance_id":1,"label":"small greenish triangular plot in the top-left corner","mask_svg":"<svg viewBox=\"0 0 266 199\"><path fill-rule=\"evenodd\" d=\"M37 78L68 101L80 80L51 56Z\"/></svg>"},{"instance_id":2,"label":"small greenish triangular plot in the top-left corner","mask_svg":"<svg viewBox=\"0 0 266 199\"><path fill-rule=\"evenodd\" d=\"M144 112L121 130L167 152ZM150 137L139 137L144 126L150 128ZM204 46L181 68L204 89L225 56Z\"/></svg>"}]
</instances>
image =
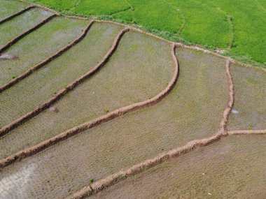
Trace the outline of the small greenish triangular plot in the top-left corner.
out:
<instances>
[{"instance_id":1,"label":"small greenish triangular plot in the top-left corner","mask_svg":"<svg viewBox=\"0 0 266 199\"><path fill-rule=\"evenodd\" d=\"M0 0L0 21L27 8L29 4L13 0Z\"/></svg>"}]
</instances>

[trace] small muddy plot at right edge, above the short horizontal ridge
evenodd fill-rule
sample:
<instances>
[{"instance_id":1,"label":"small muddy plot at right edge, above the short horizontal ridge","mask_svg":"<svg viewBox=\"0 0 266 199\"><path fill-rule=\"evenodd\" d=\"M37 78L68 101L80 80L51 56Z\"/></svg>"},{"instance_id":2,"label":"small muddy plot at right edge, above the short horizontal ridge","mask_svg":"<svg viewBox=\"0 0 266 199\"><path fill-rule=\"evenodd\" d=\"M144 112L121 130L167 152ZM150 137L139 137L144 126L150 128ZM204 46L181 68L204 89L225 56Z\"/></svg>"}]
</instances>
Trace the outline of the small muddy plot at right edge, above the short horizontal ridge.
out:
<instances>
[{"instance_id":1,"label":"small muddy plot at right edge, above the short horizontal ridge","mask_svg":"<svg viewBox=\"0 0 266 199\"><path fill-rule=\"evenodd\" d=\"M230 130L266 128L266 72L258 68L232 65L235 105L230 114Z\"/></svg>"}]
</instances>

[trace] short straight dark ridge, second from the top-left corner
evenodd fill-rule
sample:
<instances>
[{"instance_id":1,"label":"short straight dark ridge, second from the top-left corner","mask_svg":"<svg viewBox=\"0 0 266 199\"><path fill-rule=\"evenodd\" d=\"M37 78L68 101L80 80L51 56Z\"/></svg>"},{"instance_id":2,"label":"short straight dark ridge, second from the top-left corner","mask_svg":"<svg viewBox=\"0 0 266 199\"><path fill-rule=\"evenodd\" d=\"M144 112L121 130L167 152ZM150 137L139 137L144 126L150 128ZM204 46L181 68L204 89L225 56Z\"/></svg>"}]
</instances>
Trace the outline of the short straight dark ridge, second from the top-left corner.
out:
<instances>
[{"instance_id":1,"label":"short straight dark ridge, second from the top-left corner","mask_svg":"<svg viewBox=\"0 0 266 199\"><path fill-rule=\"evenodd\" d=\"M28 34L31 34L31 32L35 31L39 27L43 26L53 18L57 17L57 14L52 14L49 17L47 17L45 20L41 21L40 23L36 24L36 26L32 27L31 29L28 29L24 33L20 34L19 36L13 38L13 40L10 40L6 45L3 45L3 47L0 48L0 54L3 53L5 50L7 50L11 45L14 45L17 43L20 39L24 38Z\"/></svg>"}]
</instances>

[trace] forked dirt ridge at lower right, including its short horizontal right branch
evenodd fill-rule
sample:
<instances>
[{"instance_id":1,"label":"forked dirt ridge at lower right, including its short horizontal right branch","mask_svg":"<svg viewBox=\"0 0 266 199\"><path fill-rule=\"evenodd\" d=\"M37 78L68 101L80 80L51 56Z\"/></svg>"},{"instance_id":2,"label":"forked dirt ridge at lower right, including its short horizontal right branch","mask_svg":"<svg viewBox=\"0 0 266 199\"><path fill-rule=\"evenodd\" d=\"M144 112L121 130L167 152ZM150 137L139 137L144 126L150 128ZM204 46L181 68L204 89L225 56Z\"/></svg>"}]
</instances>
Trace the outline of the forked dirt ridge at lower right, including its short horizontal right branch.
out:
<instances>
[{"instance_id":1,"label":"forked dirt ridge at lower right, including its short horizontal right branch","mask_svg":"<svg viewBox=\"0 0 266 199\"><path fill-rule=\"evenodd\" d=\"M109 177L106 177L106 178L101 179L97 182L94 182L88 186L85 186L85 188L80 189L80 191L74 193L72 196L69 196L69 198L76 198L76 199L87 198L87 196L92 196L96 193L99 193L98 195L96 195L96 198L97 198L97 196L100 196L100 197L106 196L106 193L107 193L107 196L110 196L109 194L111 193L111 191L113 189L121 189L121 186L123 187L123 185L120 185L120 187L119 187L119 185L116 185L116 184L121 184L120 182L122 182L124 180L127 182L128 180L131 180L132 178L133 179L138 178L139 175L137 175L137 174L139 172L144 172L144 173L140 174L140 176L143 177L146 172L149 172L149 170L146 171L148 168L151 168L151 170L154 170L155 168L158 168L158 165L160 167L161 166L160 164L165 165L167 162L169 162L167 160L171 159L172 157L187 154L188 152L192 152L193 150L197 149L198 147L207 147L208 145L213 144L213 142L221 140L221 138L227 137L228 135L241 135L241 134L243 134L243 135L249 135L250 136L251 134L253 134L253 135L265 134L266 130L258 130L258 131L241 131L241 130L228 131L227 130L226 124L228 122L228 116L230 115L230 110L232 109L232 105L234 102L234 86L233 86L233 82L232 82L232 77L230 75L229 64L230 64L230 61L227 60L226 71L228 74L228 81L230 82L230 86L229 86L230 100L228 101L228 107L225 108L224 117L221 121L221 126L223 126L223 128L221 128L221 129L223 129L222 131L218 131L218 133L216 133L216 135L211 136L210 138L206 138L206 139L202 139L202 140L193 140L191 142L188 142L188 144L183 146L183 147L180 147L178 149L174 149L170 152L167 152L166 154L158 155L154 159L148 159L147 161L144 161L142 163L134 165L131 168L127 168L121 172L116 172L113 175L110 175ZM225 138L223 138L223 139L225 139ZM222 141L220 141L220 142L222 142ZM196 151L199 151L199 150L196 150ZM178 159L176 159L176 160L178 160ZM155 167L155 168L153 169L153 167ZM175 167L176 167L176 164L175 164ZM137 175L137 176L132 177L134 175ZM205 174L202 174L202 175L205 175ZM158 176L158 175L156 175L156 176ZM132 178L127 180L127 177L132 177ZM114 185L114 187L110 188L111 191L109 191L109 189L107 189L106 191L103 191L104 189L108 188L109 186L113 186L113 185ZM129 189L126 189L126 190L129 190ZM102 191L103 191L103 193L101 193ZM128 191L128 192L130 192L130 191ZM103 194L103 195L101 195L101 194ZM116 194L118 196L120 195L120 193L118 193L118 192L116 192ZM175 193L173 193L173 194L175 194ZM209 195L211 195L211 193ZM128 193L127 193L127 196L129 196Z\"/></svg>"}]
</instances>

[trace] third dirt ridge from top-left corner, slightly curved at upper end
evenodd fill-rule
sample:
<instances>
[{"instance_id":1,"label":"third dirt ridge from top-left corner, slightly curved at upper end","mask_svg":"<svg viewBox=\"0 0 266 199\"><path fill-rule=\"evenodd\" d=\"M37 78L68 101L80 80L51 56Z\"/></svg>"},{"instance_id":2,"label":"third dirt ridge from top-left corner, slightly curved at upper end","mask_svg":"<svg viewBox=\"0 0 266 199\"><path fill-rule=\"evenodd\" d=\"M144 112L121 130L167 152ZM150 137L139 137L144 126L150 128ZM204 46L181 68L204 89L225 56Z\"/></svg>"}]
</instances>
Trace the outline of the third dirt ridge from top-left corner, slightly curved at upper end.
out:
<instances>
[{"instance_id":1,"label":"third dirt ridge from top-left corner, slightly curved at upper end","mask_svg":"<svg viewBox=\"0 0 266 199\"><path fill-rule=\"evenodd\" d=\"M61 56L64 52L69 50L71 47L73 47L76 44L80 43L80 41L83 40L83 38L85 38L85 36L87 35L87 32L90 30L90 28L92 27L93 23L94 23L94 20L91 20L90 23L87 25L87 27L85 27L85 29L83 29L83 31L80 34L80 36L78 36L78 38L73 40L68 45L62 47L61 50L58 50L57 52L55 52L55 54L52 54L52 56L50 56L50 57L46 58L45 60L41 61L41 63L36 64L34 67L29 68L27 71L25 71L24 73L20 74L17 78L14 78L13 80L8 82L7 84L4 84L2 87L0 87L0 94L1 94L1 92L5 91L6 89L9 89L13 85L17 84L21 80L27 78L29 75L31 75L31 73L34 73L34 71L37 71L38 69L42 68L43 66L49 64L52 60L54 60L57 57Z\"/></svg>"}]
</instances>

